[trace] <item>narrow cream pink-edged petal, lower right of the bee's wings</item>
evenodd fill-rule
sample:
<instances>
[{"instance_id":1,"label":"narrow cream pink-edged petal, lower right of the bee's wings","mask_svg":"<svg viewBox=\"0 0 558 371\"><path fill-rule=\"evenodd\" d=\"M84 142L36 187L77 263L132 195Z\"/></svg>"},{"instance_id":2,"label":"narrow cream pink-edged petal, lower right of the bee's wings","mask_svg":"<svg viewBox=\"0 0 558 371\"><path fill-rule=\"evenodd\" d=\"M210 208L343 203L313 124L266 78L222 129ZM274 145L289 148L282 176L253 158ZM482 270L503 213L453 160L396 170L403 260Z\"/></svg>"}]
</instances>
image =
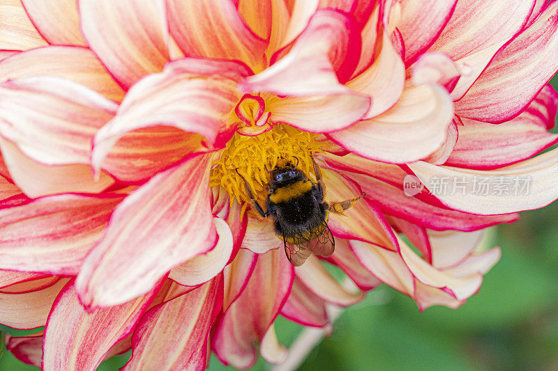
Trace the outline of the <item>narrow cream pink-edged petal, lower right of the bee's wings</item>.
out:
<instances>
[{"instance_id":1,"label":"narrow cream pink-edged petal, lower right of the bee's wings","mask_svg":"<svg viewBox=\"0 0 558 371\"><path fill-rule=\"evenodd\" d=\"M412 296L414 278L397 252L356 240L350 241L349 246L371 274L395 290Z\"/></svg>"}]
</instances>

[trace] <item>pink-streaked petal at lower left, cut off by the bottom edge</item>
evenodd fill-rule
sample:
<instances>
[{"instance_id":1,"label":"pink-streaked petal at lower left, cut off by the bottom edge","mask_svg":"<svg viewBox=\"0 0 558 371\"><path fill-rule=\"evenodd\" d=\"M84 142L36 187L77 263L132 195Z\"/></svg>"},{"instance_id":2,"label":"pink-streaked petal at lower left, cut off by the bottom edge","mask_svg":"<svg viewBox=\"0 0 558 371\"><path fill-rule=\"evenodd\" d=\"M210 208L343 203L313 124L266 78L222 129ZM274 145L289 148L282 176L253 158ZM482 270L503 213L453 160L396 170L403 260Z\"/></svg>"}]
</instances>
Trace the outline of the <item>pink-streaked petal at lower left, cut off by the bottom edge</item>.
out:
<instances>
[{"instance_id":1,"label":"pink-streaked petal at lower left, cut off by the bottom edge","mask_svg":"<svg viewBox=\"0 0 558 371\"><path fill-rule=\"evenodd\" d=\"M149 292L119 306L87 312L70 281L48 317L43 370L95 370L116 342L133 331L155 294Z\"/></svg>"}]
</instances>

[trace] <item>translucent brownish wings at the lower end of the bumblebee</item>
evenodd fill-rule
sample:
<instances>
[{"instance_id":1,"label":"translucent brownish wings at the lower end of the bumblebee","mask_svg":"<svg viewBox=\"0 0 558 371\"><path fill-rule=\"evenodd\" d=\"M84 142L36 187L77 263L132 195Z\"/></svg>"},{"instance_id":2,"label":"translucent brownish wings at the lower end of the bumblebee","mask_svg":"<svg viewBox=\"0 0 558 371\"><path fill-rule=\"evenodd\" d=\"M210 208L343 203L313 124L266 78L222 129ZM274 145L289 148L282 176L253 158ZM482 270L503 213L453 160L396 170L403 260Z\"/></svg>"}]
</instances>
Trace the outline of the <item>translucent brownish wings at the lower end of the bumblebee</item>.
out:
<instances>
[{"instance_id":1,"label":"translucent brownish wings at the lower end of the bumblebee","mask_svg":"<svg viewBox=\"0 0 558 371\"><path fill-rule=\"evenodd\" d=\"M328 257L335 251L335 239L331 234L329 227L324 224L325 228L316 237L303 242L289 244L283 239L285 244L285 253L287 259L294 267L300 267L306 259L312 254Z\"/></svg>"}]
</instances>

